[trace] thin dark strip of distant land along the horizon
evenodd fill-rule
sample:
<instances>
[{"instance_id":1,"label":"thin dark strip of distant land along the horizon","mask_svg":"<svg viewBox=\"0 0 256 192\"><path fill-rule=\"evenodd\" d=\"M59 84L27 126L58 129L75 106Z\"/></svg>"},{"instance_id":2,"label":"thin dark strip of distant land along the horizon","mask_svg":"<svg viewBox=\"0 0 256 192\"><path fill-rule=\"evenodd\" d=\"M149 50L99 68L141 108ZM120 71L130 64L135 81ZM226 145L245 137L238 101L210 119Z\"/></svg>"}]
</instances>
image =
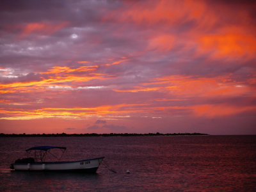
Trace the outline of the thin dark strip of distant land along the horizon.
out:
<instances>
[{"instance_id":1,"label":"thin dark strip of distant land along the horizon","mask_svg":"<svg viewBox=\"0 0 256 192\"><path fill-rule=\"evenodd\" d=\"M57 133L57 134L4 134L0 133L0 137L95 137L95 136L198 136L198 135L209 135L205 133L146 133L146 134L140 134L140 133L82 133L82 134L67 134L65 132L63 133Z\"/></svg>"}]
</instances>

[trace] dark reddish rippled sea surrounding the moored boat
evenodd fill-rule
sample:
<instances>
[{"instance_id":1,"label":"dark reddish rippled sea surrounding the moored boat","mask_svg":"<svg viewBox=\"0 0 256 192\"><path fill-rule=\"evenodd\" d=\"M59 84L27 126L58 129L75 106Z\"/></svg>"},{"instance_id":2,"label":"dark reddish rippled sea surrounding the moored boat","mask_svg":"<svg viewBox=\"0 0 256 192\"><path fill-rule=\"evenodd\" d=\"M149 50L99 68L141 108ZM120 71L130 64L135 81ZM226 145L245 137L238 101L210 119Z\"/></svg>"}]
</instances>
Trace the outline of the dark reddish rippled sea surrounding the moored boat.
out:
<instances>
[{"instance_id":1,"label":"dark reddish rippled sea surrounding the moored boat","mask_svg":"<svg viewBox=\"0 0 256 192\"><path fill-rule=\"evenodd\" d=\"M104 156L104 164L95 174L11 172L37 145L67 147L63 160ZM0 138L0 191L255 189L256 136Z\"/></svg>"}]
</instances>

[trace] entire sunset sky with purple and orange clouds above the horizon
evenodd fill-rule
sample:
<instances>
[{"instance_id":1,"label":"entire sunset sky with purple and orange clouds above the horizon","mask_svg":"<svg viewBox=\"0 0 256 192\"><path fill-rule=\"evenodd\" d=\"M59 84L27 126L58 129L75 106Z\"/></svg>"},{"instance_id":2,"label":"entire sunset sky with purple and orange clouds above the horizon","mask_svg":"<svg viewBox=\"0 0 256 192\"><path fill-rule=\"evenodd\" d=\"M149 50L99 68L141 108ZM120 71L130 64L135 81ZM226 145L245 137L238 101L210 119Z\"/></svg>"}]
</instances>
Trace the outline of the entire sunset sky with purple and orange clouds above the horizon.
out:
<instances>
[{"instance_id":1,"label":"entire sunset sky with purple and orange clouds above the horizon","mask_svg":"<svg viewBox=\"0 0 256 192\"><path fill-rule=\"evenodd\" d=\"M256 134L253 1L1 1L0 58L3 133Z\"/></svg>"}]
</instances>

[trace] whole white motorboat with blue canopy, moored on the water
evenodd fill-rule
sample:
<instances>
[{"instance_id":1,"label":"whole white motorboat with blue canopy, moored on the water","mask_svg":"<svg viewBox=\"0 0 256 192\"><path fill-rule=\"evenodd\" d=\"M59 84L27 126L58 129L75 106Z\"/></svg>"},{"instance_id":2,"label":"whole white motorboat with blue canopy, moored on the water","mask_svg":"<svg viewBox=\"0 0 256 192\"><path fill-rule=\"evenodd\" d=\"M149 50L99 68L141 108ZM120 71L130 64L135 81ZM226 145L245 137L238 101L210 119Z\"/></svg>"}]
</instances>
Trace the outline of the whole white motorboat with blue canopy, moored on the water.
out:
<instances>
[{"instance_id":1,"label":"whole white motorboat with blue canopy, moored on the water","mask_svg":"<svg viewBox=\"0 0 256 192\"><path fill-rule=\"evenodd\" d=\"M15 171L44 171L44 172L84 172L95 173L104 157L94 159L83 159L79 161L45 161L51 149L58 148L64 154L66 147L39 146L26 150L28 157L17 159L10 165ZM29 157L33 154L34 157Z\"/></svg>"}]
</instances>

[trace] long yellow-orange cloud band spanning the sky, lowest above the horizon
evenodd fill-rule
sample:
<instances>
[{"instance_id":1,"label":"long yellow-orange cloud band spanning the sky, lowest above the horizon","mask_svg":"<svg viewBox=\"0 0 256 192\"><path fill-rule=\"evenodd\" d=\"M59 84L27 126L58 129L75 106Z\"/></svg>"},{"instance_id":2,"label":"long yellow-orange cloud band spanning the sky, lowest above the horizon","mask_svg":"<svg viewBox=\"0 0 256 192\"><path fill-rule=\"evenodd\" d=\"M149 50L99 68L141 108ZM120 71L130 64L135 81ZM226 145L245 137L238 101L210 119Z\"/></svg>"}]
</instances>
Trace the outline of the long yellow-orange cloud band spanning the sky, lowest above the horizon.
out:
<instances>
[{"instance_id":1,"label":"long yellow-orange cloud band spanning the sky, lowest above the horizon","mask_svg":"<svg viewBox=\"0 0 256 192\"><path fill-rule=\"evenodd\" d=\"M161 102L162 100L160 100ZM156 105L156 103L154 104ZM212 118L215 116L236 115L246 111L256 111L256 106L236 106L227 104L202 104L191 106L152 106L152 104L118 104L97 106L92 108L42 108L42 109L5 109L0 108L0 113L4 114L0 119L6 120L29 120L35 118L89 118L89 117L130 117L131 114L145 116L185 114L205 116ZM143 115L144 114L144 115Z\"/></svg>"}]
</instances>

